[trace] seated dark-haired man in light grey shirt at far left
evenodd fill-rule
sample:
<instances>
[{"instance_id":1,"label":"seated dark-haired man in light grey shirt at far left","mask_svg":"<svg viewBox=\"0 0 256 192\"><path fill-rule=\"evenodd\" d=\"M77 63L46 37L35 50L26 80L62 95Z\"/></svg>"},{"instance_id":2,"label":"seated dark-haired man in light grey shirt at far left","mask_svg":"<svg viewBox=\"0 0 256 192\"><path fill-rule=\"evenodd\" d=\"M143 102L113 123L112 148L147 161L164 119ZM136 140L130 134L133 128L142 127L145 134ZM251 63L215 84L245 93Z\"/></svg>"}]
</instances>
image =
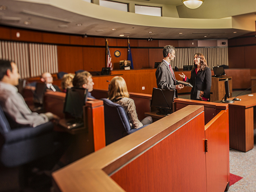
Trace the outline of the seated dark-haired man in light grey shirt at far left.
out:
<instances>
[{"instance_id":1,"label":"seated dark-haired man in light grey shirt at far left","mask_svg":"<svg viewBox=\"0 0 256 192\"><path fill-rule=\"evenodd\" d=\"M11 128L31 126L36 127L49 120L59 117L48 113L32 113L24 98L15 87L20 75L14 62L0 60L0 105L6 114Z\"/></svg>"}]
</instances>

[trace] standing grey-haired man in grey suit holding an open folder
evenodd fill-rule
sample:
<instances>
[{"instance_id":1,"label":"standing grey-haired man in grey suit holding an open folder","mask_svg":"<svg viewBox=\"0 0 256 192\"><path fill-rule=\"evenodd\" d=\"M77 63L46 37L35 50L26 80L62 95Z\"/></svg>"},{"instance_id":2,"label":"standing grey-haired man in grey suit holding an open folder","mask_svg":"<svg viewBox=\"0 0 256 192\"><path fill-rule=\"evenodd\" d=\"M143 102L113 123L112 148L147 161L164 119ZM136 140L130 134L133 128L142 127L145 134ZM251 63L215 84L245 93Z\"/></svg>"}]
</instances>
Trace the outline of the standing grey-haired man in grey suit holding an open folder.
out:
<instances>
[{"instance_id":1,"label":"standing grey-haired man in grey suit holding an open folder","mask_svg":"<svg viewBox=\"0 0 256 192\"><path fill-rule=\"evenodd\" d=\"M170 62L175 58L176 49L172 45L163 48L163 61L156 69L156 84L159 89L179 90L184 86L175 79Z\"/></svg>"}]
</instances>

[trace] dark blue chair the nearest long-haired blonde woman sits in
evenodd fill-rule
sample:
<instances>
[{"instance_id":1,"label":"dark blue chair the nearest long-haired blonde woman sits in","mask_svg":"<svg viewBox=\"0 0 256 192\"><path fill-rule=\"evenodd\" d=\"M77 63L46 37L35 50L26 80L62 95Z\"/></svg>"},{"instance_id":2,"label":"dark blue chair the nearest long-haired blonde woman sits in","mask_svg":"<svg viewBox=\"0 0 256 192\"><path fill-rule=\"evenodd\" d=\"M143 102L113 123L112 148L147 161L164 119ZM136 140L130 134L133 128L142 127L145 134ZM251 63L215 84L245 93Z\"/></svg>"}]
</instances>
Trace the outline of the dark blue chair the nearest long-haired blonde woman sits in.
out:
<instances>
[{"instance_id":1,"label":"dark blue chair the nearest long-haired blonde woman sits in","mask_svg":"<svg viewBox=\"0 0 256 192\"><path fill-rule=\"evenodd\" d=\"M109 99L101 99L104 103L105 137L106 145L142 129L132 129L128 116L123 106L113 103Z\"/></svg>"}]
</instances>

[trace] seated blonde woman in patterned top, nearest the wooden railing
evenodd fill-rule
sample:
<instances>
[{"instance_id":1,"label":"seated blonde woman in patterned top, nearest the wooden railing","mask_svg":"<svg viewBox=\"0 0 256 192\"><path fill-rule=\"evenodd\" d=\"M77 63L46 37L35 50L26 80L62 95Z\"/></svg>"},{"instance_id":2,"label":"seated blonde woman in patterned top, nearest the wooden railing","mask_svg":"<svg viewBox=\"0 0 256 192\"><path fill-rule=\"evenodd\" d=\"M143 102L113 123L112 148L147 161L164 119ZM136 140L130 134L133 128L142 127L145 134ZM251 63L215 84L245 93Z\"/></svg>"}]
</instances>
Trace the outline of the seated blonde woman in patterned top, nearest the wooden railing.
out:
<instances>
[{"instance_id":1,"label":"seated blonde woman in patterned top, nearest the wooden railing","mask_svg":"<svg viewBox=\"0 0 256 192\"><path fill-rule=\"evenodd\" d=\"M111 80L108 99L124 107L133 129L138 129L153 122L152 117L145 117L142 121L138 120L134 100L129 98L125 79L122 77L116 76Z\"/></svg>"}]
</instances>

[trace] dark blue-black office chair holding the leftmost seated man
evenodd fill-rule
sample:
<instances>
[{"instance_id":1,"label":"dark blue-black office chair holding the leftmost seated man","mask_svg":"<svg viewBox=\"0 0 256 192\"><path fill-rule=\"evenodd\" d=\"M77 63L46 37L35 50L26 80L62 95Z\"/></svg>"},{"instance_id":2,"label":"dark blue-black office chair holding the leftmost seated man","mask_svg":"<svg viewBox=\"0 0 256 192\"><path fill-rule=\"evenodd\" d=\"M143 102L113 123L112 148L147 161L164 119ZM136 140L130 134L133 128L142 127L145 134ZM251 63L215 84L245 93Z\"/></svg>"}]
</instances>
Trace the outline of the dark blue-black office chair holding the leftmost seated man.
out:
<instances>
[{"instance_id":1,"label":"dark blue-black office chair holding the leftmost seated man","mask_svg":"<svg viewBox=\"0 0 256 192\"><path fill-rule=\"evenodd\" d=\"M12 130L0 106L0 175L2 178L7 178L10 172L15 175L10 181L2 181L4 185L0 185L0 191L20 187L21 181L24 181L24 165L53 154L55 146L53 123ZM20 180L16 181L19 184L15 183L15 178Z\"/></svg>"}]
</instances>

